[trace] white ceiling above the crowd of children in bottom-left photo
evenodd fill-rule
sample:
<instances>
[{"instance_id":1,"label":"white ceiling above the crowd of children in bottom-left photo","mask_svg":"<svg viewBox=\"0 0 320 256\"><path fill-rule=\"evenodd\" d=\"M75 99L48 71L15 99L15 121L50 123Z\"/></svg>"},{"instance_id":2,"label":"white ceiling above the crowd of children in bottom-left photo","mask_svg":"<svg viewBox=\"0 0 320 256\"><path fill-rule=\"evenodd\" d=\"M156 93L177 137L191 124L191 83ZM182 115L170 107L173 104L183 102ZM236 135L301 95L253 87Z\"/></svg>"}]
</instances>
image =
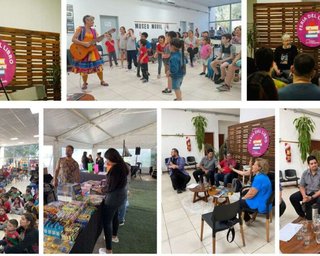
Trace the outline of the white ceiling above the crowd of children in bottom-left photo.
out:
<instances>
[{"instance_id":1,"label":"white ceiling above the crowd of children in bottom-left photo","mask_svg":"<svg viewBox=\"0 0 320 256\"><path fill-rule=\"evenodd\" d=\"M38 143L39 115L30 109L1 109L0 146L15 146ZM10 140L18 138L17 140Z\"/></svg>"}]
</instances>

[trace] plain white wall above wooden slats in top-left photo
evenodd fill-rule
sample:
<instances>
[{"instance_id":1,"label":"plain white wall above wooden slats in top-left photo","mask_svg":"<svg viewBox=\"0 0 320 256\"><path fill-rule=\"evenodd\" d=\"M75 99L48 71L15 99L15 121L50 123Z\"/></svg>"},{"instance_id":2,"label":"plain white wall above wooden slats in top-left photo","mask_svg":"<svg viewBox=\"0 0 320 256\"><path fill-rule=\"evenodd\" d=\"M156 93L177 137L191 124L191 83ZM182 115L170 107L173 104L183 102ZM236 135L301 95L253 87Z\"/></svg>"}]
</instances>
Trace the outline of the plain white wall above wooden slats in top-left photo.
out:
<instances>
[{"instance_id":1,"label":"plain white wall above wooden slats in top-left photo","mask_svg":"<svg viewBox=\"0 0 320 256\"><path fill-rule=\"evenodd\" d=\"M1 26L60 33L60 0L0 0Z\"/></svg>"}]
</instances>

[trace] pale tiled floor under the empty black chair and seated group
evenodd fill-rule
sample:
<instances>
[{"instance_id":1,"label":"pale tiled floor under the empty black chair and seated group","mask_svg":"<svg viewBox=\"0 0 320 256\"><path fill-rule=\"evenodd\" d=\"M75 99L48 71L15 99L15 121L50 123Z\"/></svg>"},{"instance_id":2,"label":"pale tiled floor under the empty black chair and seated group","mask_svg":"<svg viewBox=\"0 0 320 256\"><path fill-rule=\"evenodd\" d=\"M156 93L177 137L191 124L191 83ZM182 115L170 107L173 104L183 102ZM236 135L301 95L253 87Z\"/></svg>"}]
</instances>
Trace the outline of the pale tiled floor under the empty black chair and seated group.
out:
<instances>
[{"instance_id":1,"label":"pale tiled floor under the empty black chair and seated group","mask_svg":"<svg viewBox=\"0 0 320 256\"><path fill-rule=\"evenodd\" d=\"M189 171L192 176L192 171ZM194 179L190 181L194 183ZM189 183L189 184L190 184ZM173 190L168 173L162 175L162 253L212 253L211 229L204 225L203 241L200 241L201 214L213 210L212 198L209 202L192 203L190 191L177 194ZM231 201L239 198L238 193ZM227 231L217 234L216 252L229 254L275 252L274 222L270 224L270 243L266 241L265 218L258 216L252 226L244 227L246 246L243 247L239 225L236 225L236 236L233 243L226 239ZM252 243L251 241L254 241Z\"/></svg>"}]
</instances>

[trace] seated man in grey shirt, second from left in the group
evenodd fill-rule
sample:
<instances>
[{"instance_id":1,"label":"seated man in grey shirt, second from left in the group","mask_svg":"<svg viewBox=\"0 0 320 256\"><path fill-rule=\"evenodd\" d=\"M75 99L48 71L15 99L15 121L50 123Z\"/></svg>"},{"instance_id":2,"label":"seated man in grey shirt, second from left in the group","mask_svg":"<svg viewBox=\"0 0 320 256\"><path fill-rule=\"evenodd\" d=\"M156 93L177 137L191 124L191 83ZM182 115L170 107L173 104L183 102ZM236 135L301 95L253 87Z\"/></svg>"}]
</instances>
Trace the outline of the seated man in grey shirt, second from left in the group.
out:
<instances>
[{"instance_id":1,"label":"seated man in grey shirt, second from left in the group","mask_svg":"<svg viewBox=\"0 0 320 256\"><path fill-rule=\"evenodd\" d=\"M198 168L193 172L193 177L197 183L199 181L203 183L203 176L205 175L207 181L210 181L211 185L214 185L214 172L217 167L217 159L213 155L213 150L210 148L207 151L207 155L201 159L198 164Z\"/></svg>"}]
</instances>

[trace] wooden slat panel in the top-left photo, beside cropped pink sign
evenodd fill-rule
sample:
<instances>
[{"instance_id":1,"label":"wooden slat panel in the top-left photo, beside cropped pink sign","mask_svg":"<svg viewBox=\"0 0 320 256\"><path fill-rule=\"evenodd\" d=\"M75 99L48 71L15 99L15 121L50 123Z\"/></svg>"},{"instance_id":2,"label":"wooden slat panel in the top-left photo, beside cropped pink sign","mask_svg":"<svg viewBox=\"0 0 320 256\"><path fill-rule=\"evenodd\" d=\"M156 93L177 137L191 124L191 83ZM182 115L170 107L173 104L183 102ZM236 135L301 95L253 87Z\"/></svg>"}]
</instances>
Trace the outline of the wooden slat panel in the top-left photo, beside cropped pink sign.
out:
<instances>
[{"instance_id":1,"label":"wooden slat panel in the top-left photo, beside cropped pink sign","mask_svg":"<svg viewBox=\"0 0 320 256\"><path fill-rule=\"evenodd\" d=\"M16 57L16 74L10 86L45 85L48 100L60 100L60 90L50 86L50 70L60 65L60 34L0 27L0 39L11 46Z\"/></svg>"}]
</instances>

